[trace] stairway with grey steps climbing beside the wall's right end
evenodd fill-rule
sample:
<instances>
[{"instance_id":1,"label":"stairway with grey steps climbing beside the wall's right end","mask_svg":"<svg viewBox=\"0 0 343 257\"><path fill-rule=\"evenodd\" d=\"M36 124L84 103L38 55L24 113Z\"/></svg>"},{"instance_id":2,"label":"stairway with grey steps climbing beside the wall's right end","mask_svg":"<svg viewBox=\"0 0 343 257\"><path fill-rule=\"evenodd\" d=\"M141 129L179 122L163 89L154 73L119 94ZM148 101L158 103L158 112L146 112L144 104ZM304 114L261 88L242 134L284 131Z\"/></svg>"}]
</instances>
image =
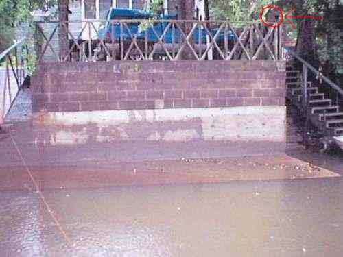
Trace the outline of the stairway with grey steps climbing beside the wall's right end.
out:
<instances>
[{"instance_id":1,"label":"stairway with grey steps climbing beside the wall's right end","mask_svg":"<svg viewBox=\"0 0 343 257\"><path fill-rule=\"evenodd\" d=\"M287 64L286 88L287 88L287 108L295 106L300 114L305 116L303 108L303 95L301 88L300 71L294 69L292 64ZM311 125L324 136L343 136L343 112L332 99L320 92L320 88L313 86L312 82L307 82L308 95L308 115Z\"/></svg>"}]
</instances>

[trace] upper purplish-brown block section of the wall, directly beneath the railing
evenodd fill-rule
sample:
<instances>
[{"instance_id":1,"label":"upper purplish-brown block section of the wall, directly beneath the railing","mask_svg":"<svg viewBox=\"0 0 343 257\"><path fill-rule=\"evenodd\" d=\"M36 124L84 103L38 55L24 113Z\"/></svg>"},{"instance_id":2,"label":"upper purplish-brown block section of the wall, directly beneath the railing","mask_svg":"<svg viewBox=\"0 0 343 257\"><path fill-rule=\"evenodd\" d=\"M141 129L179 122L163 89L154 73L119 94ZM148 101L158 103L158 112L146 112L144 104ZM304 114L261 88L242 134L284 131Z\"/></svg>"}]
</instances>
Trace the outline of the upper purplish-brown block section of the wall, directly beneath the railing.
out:
<instances>
[{"instance_id":1,"label":"upper purplish-brown block section of the wall, directly beneath the railing","mask_svg":"<svg viewBox=\"0 0 343 257\"><path fill-rule=\"evenodd\" d=\"M273 61L41 64L34 112L284 106L285 63Z\"/></svg>"}]
</instances>

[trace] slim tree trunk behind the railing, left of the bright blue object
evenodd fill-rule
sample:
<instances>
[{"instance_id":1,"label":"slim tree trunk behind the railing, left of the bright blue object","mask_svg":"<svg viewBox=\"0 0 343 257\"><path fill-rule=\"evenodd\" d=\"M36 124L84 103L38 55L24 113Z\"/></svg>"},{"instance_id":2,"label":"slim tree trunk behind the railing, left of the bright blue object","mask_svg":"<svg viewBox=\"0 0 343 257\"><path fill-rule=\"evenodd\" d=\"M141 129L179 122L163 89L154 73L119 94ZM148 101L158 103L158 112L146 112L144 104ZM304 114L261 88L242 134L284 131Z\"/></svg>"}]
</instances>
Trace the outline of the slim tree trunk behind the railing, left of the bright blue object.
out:
<instances>
[{"instance_id":1,"label":"slim tree trunk behind the railing, left of the bright blue object","mask_svg":"<svg viewBox=\"0 0 343 257\"><path fill-rule=\"evenodd\" d=\"M60 19L60 27L58 28L58 42L60 47L60 57L67 56L69 51L69 39L68 39L68 5L69 0L58 0L58 16ZM64 27L64 24L66 27Z\"/></svg>"}]
</instances>

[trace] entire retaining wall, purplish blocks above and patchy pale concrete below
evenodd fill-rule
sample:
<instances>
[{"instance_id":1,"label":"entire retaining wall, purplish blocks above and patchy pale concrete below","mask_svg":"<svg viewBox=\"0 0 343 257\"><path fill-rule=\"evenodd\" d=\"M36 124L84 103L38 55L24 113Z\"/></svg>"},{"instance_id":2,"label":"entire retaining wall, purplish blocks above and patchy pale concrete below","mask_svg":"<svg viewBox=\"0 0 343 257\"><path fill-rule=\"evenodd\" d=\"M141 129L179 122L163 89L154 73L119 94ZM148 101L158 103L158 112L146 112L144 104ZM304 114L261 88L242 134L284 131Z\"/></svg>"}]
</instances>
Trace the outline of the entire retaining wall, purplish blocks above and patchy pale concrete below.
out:
<instances>
[{"instance_id":1,"label":"entire retaining wall, purplish blocks above and patchy pale concrete below","mask_svg":"<svg viewBox=\"0 0 343 257\"><path fill-rule=\"evenodd\" d=\"M78 145L88 159L285 151L283 62L63 65L40 66L32 79L36 143Z\"/></svg>"}]
</instances>

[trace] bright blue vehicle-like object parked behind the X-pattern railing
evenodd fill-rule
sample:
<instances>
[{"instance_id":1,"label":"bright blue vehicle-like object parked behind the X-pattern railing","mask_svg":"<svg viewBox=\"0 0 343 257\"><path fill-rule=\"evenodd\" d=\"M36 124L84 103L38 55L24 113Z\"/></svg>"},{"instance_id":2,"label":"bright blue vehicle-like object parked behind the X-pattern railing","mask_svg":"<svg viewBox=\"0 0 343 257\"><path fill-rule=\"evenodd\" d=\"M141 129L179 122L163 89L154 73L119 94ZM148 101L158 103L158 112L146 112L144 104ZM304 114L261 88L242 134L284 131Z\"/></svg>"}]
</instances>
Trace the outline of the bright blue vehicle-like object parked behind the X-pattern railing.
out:
<instances>
[{"instance_id":1,"label":"bright blue vehicle-like object parked behind the X-pattern railing","mask_svg":"<svg viewBox=\"0 0 343 257\"><path fill-rule=\"evenodd\" d=\"M182 34L178 26L171 26L168 20L177 20L177 15L160 15L158 17L154 16L150 12L145 12L143 10L132 10L126 8L110 8L107 15L107 20L102 29L99 29L98 38L104 42L114 43L123 41L124 46L130 45L133 38L137 40L137 44L140 45L141 49L144 49L144 43L149 45L150 49L152 46L156 45L159 40L165 45L165 47L170 47L170 45L178 45L185 41L185 36ZM119 23L119 20L135 20L130 21L125 24ZM145 20L145 21L139 21ZM140 29L142 23L148 23L145 29ZM180 23L179 23L180 24ZM168 27L169 26L169 27ZM225 36L226 42L233 45L235 40L235 35L230 30L224 33L224 29L217 34L218 29L205 29L202 26L196 27L193 30L192 40L195 45L195 49L206 49L206 43L209 43L209 38L215 38L217 45L224 49ZM215 37L215 35L217 36ZM146 42L147 41L147 42ZM119 44L120 45L120 44ZM157 44L158 45L158 44ZM156 51L156 54L163 55L165 51L163 47ZM140 55L137 49L132 49L132 56ZM131 59L136 59L132 58Z\"/></svg>"}]
</instances>

